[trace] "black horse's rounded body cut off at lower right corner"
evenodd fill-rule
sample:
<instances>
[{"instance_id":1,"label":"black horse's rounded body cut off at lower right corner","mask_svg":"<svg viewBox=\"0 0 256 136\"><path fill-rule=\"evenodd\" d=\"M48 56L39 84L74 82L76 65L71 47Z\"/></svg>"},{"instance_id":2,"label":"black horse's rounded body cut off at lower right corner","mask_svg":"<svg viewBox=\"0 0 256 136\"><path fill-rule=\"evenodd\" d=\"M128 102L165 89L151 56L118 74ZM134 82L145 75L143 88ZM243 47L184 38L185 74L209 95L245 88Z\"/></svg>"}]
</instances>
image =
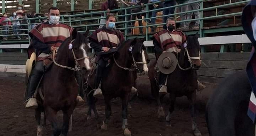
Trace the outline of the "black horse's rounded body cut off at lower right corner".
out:
<instances>
[{"instance_id":1,"label":"black horse's rounded body cut off at lower right corner","mask_svg":"<svg viewBox=\"0 0 256 136\"><path fill-rule=\"evenodd\" d=\"M207 103L210 136L255 136L255 123L247 116L252 88L245 71L226 78Z\"/></svg>"}]
</instances>

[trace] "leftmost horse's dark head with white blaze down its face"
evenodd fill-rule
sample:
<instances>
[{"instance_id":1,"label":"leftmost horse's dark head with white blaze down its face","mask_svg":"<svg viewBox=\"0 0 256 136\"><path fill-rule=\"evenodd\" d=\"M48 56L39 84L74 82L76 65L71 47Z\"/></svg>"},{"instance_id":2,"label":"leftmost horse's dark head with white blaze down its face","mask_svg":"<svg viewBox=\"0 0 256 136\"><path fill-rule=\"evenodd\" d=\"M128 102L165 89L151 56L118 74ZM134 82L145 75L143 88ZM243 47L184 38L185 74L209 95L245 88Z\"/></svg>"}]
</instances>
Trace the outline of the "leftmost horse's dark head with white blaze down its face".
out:
<instances>
[{"instance_id":1,"label":"leftmost horse's dark head with white blaze down its face","mask_svg":"<svg viewBox=\"0 0 256 136\"><path fill-rule=\"evenodd\" d=\"M86 69L86 70L90 70L90 60L88 58L88 48L89 48L89 42L88 42L88 33L89 30L87 29L87 31L84 34L81 34L79 32L77 32L76 29L74 29L72 31L72 38L71 38L71 43L73 45L72 49L73 49L73 55L75 60L79 63L80 68L81 69Z\"/></svg>"}]
</instances>

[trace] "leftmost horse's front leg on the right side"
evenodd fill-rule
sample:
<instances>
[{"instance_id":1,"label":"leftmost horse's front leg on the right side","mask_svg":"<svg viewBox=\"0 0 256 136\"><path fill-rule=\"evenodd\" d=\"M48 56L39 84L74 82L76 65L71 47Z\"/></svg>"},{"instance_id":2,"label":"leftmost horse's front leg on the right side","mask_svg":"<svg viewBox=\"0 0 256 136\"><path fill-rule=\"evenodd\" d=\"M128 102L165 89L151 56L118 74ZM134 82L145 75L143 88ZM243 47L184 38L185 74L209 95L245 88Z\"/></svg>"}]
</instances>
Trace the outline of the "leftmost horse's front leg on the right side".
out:
<instances>
[{"instance_id":1,"label":"leftmost horse's front leg on the right side","mask_svg":"<svg viewBox=\"0 0 256 136\"><path fill-rule=\"evenodd\" d=\"M63 112L63 125L62 125L62 129L61 129L61 133L64 136L68 135L68 130L69 130L69 121L70 121L70 117L74 111L75 106L71 106L69 107L67 110L62 110Z\"/></svg>"}]
</instances>

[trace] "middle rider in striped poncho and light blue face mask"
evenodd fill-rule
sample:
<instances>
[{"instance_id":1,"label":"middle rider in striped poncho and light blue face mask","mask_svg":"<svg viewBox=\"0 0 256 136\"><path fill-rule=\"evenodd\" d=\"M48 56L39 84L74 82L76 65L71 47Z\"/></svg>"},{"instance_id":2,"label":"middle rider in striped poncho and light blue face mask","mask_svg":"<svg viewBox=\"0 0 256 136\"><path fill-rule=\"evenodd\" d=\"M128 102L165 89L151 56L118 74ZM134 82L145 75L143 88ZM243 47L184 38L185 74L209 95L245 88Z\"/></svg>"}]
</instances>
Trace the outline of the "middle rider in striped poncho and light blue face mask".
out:
<instances>
[{"instance_id":1,"label":"middle rider in striped poncho and light blue face mask","mask_svg":"<svg viewBox=\"0 0 256 136\"><path fill-rule=\"evenodd\" d=\"M108 15L106 17L106 26L101 29L95 30L93 34L89 36L90 46L96 52L108 52L111 48L116 48L121 45L125 38L122 33L118 30L115 30L115 17L113 15ZM96 78L95 78L95 92L94 96L101 96L102 91L100 89L101 78L103 70L108 64L109 55L97 56L97 67L96 67ZM136 92L137 89L132 87L131 92Z\"/></svg>"}]
</instances>

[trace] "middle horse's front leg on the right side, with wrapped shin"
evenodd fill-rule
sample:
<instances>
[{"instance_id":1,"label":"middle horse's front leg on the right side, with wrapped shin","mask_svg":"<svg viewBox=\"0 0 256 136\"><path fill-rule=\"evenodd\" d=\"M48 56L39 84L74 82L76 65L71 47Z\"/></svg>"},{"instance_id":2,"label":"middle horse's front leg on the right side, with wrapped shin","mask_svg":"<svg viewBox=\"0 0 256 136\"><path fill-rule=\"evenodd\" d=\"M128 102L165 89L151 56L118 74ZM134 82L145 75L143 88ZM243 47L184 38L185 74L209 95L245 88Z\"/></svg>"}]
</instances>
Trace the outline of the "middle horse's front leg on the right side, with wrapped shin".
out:
<instances>
[{"instance_id":1,"label":"middle horse's front leg on the right side, with wrapped shin","mask_svg":"<svg viewBox=\"0 0 256 136\"><path fill-rule=\"evenodd\" d=\"M123 130L124 130L124 135L125 136L131 136L131 132L128 129L128 119L127 119L127 115L128 115L128 101L129 101L129 94L125 94L124 97L121 98L122 99L122 117L123 117Z\"/></svg>"}]
</instances>

